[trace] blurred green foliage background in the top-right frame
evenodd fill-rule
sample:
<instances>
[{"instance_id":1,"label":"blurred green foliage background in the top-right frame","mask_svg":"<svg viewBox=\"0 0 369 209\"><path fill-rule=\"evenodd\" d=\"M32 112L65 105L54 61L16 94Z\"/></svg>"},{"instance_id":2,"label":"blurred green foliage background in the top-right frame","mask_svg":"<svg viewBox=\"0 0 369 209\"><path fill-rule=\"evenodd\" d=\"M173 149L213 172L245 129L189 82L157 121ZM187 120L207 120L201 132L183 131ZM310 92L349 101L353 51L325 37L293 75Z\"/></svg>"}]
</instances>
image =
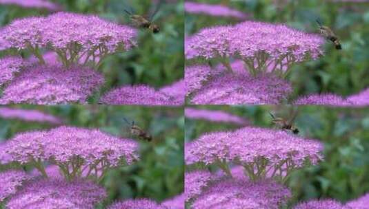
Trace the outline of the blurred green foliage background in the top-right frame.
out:
<instances>
[{"instance_id":1,"label":"blurred green foliage background in the top-right frame","mask_svg":"<svg viewBox=\"0 0 369 209\"><path fill-rule=\"evenodd\" d=\"M195 1L195 0L194 0ZM334 93L356 94L369 87L369 2L337 3L309 0L197 0L222 3L249 14L249 20L286 23L306 32L318 33L316 19L328 25L341 39L343 50L326 43L326 54L317 61L293 66L289 80L297 96ZM186 35L203 27L230 25L241 20L186 13Z\"/></svg>"}]
</instances>

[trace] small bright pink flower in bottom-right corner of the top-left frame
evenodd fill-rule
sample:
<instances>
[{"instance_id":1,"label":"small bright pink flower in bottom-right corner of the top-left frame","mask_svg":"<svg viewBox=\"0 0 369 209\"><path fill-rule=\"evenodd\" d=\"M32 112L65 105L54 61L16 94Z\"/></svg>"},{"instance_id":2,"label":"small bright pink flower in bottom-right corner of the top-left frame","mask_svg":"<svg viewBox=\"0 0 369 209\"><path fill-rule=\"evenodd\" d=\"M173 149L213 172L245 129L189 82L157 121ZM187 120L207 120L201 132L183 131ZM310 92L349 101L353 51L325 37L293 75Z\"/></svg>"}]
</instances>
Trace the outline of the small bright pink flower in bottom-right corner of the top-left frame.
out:
<instances>
[{"instance_id":1,"label":"small bright pink flower in bottom-right corner of the top-left frame","mask_svg":"<svg viewBox=\"0 0 369 209\"><path fill-rule=\"evenodd\" d=\"M186 86L183 79L172 83L172 85L162 87L159 91L170 96L170 100L172 100L174 104L184 104Z\"/></svg>"}]
</instances>

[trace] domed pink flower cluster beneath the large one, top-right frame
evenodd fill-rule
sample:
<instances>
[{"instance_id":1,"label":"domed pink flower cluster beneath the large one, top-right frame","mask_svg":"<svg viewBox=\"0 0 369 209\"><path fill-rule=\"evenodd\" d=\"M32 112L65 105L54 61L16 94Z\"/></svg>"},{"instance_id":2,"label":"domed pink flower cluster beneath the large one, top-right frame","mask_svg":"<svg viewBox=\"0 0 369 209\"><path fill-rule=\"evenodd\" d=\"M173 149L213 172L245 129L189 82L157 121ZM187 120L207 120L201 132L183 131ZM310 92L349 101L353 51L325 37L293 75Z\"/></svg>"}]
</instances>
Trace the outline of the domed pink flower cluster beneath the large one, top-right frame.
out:
<instances>
[{"instance_id":1,"label":"domed pink flower cluster beneath the large one, top-right frame","mask_svg":"<svg viewBox=\"0 0 369 209\"><path fill-rule=\"evenodd\" d=\"M190 100L191 104L279 104L292 91L273 74L241 76L223 73L212 78Z\"/></svg>"}]
</instances>

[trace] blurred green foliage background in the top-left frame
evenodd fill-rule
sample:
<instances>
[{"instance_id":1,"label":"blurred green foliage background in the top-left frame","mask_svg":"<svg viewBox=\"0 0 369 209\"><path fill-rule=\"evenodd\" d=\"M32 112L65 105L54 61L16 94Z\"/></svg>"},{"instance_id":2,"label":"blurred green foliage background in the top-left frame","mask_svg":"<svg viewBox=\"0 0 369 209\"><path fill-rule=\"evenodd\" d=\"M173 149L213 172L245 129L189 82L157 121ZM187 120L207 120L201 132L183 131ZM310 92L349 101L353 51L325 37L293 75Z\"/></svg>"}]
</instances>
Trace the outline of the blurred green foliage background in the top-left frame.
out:
<instances>
[{"instance_id":1,"label":"blurred green foliage background in the top-left frame","mask_svg":"<svg viewBox=\"0 0 369 209\"><path fill-rule=\"evenodd\" d=\"M59 3L64 11L97 14L116 23L132 25L124 9L132 8L137 14L150 16L159 1L54 0L53 2ZM0 5L0 26L21 17L48 14L50 12L43 9ZM106 78L101 94L121 85L143 83L152 87L163 87L183 78L183 20L183 0L177 3L163 3L153 19L161 28L161 32L152 34L148 30L139 30L138 47L129 52L108 56L99 67L99 71L103 72ZM0 52L0 57L3 55L4 53Z\"/></svg>"}]
</instances>

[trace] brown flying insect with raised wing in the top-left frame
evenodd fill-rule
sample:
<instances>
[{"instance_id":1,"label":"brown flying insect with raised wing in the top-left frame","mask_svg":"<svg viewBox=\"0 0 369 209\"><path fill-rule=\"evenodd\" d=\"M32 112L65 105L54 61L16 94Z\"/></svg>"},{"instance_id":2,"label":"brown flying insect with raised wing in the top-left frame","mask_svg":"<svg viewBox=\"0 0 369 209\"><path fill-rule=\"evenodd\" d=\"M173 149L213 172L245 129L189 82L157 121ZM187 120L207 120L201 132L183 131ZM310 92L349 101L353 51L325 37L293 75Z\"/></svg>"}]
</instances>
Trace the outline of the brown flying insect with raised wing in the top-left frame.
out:
<instances>
[{"instance_id":1,"label":"brown flying insect with raised wing in the top-left frame","mask_svg":"<svg viewBox=\"0 0 369 209\"><path fill-rule=\"evenodd\" d=\"M130 21L132 21L132 23L134 25L136 25L136 27L143 28L143 29L148 29L152 33L157 34L157 33L160 32L160 28L159 28L159 25L156 25L156 24L152 23L152 19L155 16L155 14L157 14L157 12L159 11L159 8L161 7L162 2L163 1L159 2L159 4L157 5L156 10L154 12L152 12L150 18L148 18L148 19L146 19L142 15L133 14L133 12L129 12L128 10L124 10L124 12L126 12L129 15Z\"/></svg>"}]
</instances>

